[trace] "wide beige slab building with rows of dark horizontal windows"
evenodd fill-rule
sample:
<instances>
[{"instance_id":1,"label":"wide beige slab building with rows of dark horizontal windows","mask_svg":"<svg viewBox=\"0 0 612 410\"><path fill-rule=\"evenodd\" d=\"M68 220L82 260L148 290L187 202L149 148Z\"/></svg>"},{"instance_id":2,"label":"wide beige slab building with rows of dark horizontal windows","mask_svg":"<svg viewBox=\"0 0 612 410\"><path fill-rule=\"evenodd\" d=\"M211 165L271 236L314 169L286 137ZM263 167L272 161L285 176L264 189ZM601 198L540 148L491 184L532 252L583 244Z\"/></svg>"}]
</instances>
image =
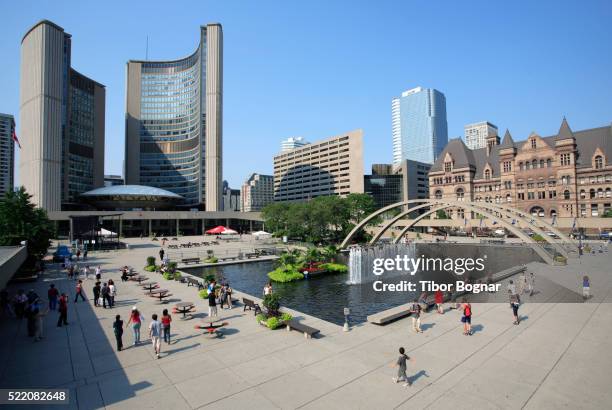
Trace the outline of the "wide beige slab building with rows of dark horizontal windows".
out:
<instances>
[{"instance_id":1,"label":"wide beige slab building with rows of dark horizontal windows","mask_svg":"<svg viewBox=\"0 0 612 410\"><path fill-rule=\"evenodd\" d=\"M350 131L274 157L274 200L363 193L363 131Z\"/></svg>"}]
</instances>

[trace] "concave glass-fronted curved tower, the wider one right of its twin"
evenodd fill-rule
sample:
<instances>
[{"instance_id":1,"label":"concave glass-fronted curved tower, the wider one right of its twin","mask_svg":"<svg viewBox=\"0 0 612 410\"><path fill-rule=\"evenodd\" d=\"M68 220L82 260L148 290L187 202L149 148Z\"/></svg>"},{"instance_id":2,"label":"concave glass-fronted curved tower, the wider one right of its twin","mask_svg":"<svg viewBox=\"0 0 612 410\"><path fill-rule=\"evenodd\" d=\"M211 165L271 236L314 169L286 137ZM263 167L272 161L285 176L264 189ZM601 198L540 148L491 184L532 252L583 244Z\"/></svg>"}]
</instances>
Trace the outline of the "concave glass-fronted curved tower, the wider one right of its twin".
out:
<instances>
[{"instance_id":1,"label":"concave glass-fronted curved tower, the wider one right of its twin","mask_svg":"<svg viewBox=\"0 0 612 410\"><path fill-rule=\"evenodd\" d=\"M126 184L221 210L222 36L220 24L209 24L188 57L127 63Z\"/></svg>"}]
</instances>

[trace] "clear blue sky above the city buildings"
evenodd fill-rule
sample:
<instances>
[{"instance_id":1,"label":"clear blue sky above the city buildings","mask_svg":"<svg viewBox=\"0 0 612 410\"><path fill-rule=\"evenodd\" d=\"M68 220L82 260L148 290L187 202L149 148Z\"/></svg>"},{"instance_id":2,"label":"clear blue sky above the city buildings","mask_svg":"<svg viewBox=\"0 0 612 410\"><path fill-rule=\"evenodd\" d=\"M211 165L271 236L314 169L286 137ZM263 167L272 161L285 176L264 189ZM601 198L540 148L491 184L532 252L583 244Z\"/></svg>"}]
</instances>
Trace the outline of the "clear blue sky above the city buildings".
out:
<instances>
[{"instance_id":1,"label":"clear blue sky above the city buildings","mask_svg":"<svg viewBox=\"0 0 612 410\"><path fill-rule=\"evenodd\" d=\"M391 161L391 98L446 95L449 138L488 120L515 140L612 122L612 2L28 1L0 19L0 112L19 113L23 34L49 19L72 65L107 87L106 173L121 173L125 63L175 59L224 29L224 177L271 173L280 140L362 128L365 171ZM95 5L94 5L95 4ZM19 118L17 118L19 127ZM19 128L18 128L19 130ZM23 149L28 149L24 146ZM18 177L18 176L17 176Z\"/></svg>"}]
</instances>

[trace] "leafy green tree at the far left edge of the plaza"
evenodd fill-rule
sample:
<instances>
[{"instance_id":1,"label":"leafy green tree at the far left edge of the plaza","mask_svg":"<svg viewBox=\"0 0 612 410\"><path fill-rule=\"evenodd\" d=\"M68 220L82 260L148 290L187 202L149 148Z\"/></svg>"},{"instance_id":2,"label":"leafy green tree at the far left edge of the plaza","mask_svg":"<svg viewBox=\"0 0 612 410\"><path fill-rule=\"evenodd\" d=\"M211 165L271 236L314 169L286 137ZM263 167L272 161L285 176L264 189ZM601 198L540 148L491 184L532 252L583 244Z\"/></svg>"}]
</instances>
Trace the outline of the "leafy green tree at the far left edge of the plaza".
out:
<instances>
[{"instance_id":1,"label":"leafy green tree at the far left edge of the plaza","mask_svg":"<svg viewBox=\"0 0 612 410\"><path fill-rule=\"evenodd\" d=\"M7 192L0 201L0 246L27 241L28 265L42 259L51 246L55 230L45 210L36 208L23 187Z\"/></svg>"}]
</instances>

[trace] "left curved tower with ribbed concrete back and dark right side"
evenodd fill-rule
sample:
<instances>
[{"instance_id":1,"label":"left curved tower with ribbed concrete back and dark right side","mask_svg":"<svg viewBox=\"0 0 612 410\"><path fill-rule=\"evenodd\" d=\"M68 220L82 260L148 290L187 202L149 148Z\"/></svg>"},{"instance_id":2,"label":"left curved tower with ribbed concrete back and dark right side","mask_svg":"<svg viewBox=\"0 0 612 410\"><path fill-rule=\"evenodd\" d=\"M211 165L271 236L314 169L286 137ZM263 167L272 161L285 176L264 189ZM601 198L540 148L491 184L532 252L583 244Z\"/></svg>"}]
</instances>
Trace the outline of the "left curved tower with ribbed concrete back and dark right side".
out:
<instances>
[{"instance_id":1,"label":"left curved tower with ribbed concrete back and dark right side","mask_svg":"<svg viewBox=\"0 0 612 410\"><path fill-rule=\"evenodd\" d=\"M71 36L43 20L21 41L19 170L33 202L77 206L104 185L104 86L70 65Z\"/></svg>"}]
</instances>

